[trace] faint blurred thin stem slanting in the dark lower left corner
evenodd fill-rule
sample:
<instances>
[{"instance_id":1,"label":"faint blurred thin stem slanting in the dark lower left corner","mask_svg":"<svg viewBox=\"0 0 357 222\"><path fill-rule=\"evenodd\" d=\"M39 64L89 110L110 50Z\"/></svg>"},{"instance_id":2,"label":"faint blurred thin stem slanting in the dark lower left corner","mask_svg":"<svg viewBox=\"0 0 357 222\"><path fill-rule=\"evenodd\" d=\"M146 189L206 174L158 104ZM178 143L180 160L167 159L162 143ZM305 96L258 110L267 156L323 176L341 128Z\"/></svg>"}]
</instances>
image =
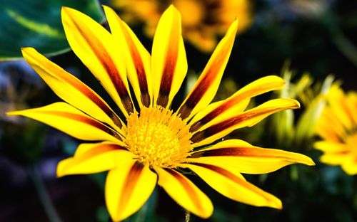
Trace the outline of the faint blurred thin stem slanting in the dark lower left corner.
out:
<instances>
[{"instance_id":1,"label":"faint blurred thin stem slanting in the dark lower left corner","mask_svg":"<svg viewBox=\"0 0 357 222\"><path fill-rule=\"evenodd\" d=\"M39 199L42 203L42 206L44 207L44 211L47 217L49 218L49 221L61 222L61 219L59 218L59 215L57 214L56 209L54 208L54 204L51 201L49 192L46 189L44 181L42 181L41 175L36 170L35 166L29 169L29 175L32 181L34 181L35 189L37 191L37 194L39 195Z\"/></svg>"}]
</instances>

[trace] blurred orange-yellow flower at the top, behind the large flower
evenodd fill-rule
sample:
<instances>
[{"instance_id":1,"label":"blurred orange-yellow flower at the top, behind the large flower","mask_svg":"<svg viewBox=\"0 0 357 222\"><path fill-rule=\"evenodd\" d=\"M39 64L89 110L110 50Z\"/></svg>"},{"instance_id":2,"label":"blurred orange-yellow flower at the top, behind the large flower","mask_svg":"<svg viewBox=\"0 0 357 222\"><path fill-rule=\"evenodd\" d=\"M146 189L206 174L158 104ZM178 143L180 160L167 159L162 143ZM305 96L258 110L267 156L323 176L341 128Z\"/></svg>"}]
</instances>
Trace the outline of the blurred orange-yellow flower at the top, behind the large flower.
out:
<instances>
[{"instance_id":1,"label":"blurred orange-yellow flower at the top, behind the large flower","mask_svg":"<svg viewBox=\"0 0 357 222\"><path fill-rule=\"evenodd\" d=\"M182 16L182 34L193 46L211 52L217 45L217 36L223 35L231 21L238 18L239 32L246 31L253 22L251 2L248 0L112 0L121 9L128 23L145 23L147 36L154 36L161 14L174 4Z\"/></svg>"}]
</instances>

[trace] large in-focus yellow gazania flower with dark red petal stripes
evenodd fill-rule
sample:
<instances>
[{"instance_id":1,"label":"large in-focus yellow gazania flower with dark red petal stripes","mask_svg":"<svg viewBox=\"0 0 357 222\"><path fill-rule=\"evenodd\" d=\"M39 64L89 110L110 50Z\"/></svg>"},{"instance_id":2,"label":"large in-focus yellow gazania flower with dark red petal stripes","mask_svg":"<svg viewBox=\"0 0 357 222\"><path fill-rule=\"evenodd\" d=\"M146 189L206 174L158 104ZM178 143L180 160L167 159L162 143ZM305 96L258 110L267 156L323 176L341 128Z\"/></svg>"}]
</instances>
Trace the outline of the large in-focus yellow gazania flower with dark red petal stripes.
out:
<instances>
[{"instance_id":1,"label":"large in-focus yellow gazania flower with dark red petal stripes","mask_svg":"<svg viewBox=\"0 0 357 222\"><path fill-rule=\"evenodd\" d=\"M34 48L22 49L27 62L65 102L10 115L31 117L92 142L80 144L74 157L61 161L58 176L109 170L105 196L114 221L138 211L156 184L187 211L202 218L211 216L212 203L183 174L188 170L230 199L281 208L279 199L250 184L241 173L265 174L293 163L313 165L310 158L254 147L238 139L214 143L234 129L299 106L296 100L276 99L245 110L251 97L283 87L283 80L276 76L258 79L228 99L209 105L231 53L238 22L231 24L191 93L177 110L171 110L187 70L178 11L170 6L164 12L151 56L112 9L104 6L104 11L111 33L74 9L62 9L62 22L74 53L120 111Z\"/></svg>"}]
</instances>

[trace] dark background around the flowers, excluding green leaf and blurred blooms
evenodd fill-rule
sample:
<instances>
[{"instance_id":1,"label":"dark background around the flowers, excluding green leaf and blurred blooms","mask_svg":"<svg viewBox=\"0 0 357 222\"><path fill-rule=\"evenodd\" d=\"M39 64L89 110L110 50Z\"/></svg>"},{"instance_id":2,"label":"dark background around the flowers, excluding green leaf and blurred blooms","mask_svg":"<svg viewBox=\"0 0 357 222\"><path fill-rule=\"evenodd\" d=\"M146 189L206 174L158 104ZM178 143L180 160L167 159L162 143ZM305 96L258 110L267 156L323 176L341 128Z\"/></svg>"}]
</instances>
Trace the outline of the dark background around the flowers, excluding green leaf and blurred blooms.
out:
<instances>
[{"instance_id":1,"label":"dark background around the flowers, excluding green leaf and blurred blooms","mask_svg":"<svg viewBox=\"0 0 357 222\"><path fill-rule=\"evenodd\" d=\"M333 74L342 80L343 89L356 90L356 1L321 1L326 9L318 14L298 12L289 2L253 1L255 21L248 31L237 36L224 80L233 79L241 88L265 75L280 75L288 60L294 79L308 72L321 82ZM133 29L150 50L151 40L143 35L141 27ZM200 73L210 55L189 43L186 53L188 68ZM51 60L103 95L104 90L74 53ZM0 63L0 71L0 109L11 105L39 107L59 101L24 62ZM259 127L267 125L246 130L261 130ZM235 134L249 142L246 130ZM347 176L338 166L318 162L321 153L313 150L311 143L276 147L275 138L264 133L256 140L264 147L307 154L316 166L286 166L268 175L246 175L248 181L283 201L281 211L236 203L194 178L215 206L208 221L357 221L356 176ZM103 194L105 173L56 178L56 164L73 154L77 144L76 139L39 122L1 116L0 221L56 221L48 217L51 209L46 212L44 208L49 208L49 202L62 221L109 221ZM139 211L128 221L184 220L183 210L159 187L148 205L146 216ZM191 221L201 219L191 215Z\"/></svg>"}]
</instances>

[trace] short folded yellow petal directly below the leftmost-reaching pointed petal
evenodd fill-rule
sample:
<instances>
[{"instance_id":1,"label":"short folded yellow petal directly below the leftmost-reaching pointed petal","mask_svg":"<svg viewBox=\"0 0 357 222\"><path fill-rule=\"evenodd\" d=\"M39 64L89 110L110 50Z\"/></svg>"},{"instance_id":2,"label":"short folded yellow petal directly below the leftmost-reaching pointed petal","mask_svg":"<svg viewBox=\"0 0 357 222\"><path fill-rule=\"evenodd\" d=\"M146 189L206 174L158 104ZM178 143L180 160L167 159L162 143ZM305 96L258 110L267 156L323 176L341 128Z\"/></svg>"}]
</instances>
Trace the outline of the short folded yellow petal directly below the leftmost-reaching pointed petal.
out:
<instances>
[{"instance_id":1,"label":"short folded yellow petal directly below the leftmost-reaching pointed petal","mask_svg":"<svg viewBox=\"0 0 357 222\"><path fill-rule=\"evenodd\" d=\"M114 143L80 144L74 157L59 162L57 176L94 174L113 169L134 158L134 154Z\"/></svg>"}]
</instances>

